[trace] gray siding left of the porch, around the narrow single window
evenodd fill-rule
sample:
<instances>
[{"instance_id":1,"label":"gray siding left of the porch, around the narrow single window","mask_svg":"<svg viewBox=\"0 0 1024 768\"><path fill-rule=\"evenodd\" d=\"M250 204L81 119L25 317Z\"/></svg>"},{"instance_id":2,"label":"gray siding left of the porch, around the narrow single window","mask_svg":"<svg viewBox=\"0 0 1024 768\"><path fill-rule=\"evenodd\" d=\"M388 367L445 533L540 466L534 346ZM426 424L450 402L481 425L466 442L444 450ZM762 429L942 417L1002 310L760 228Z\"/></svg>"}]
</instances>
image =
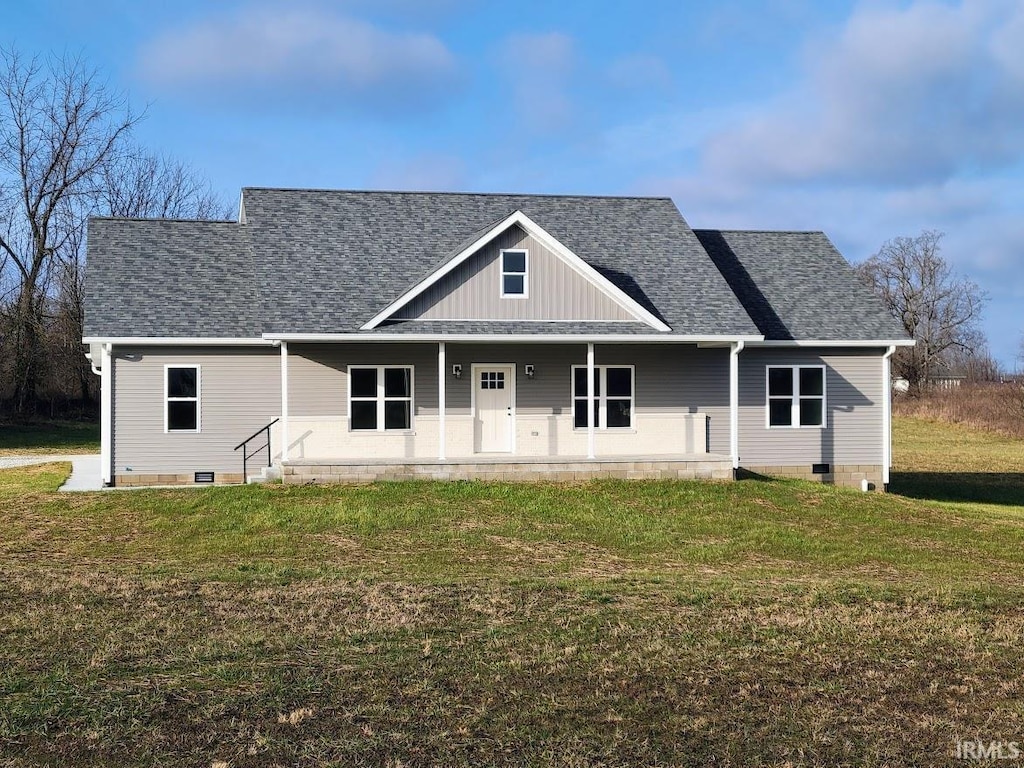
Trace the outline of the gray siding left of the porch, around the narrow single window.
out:
<instances>
[{"instance_id":1,"label":"gray siding left of the porch, around the narrow single window","mask_svg":"<svg viewBox=\"0 0 1024 768\"><path fill-rule=\"evenodd\" d=\"M200 366L199 433L164 432L164 367ZM232 449L281 414L281 357L260 347L115 347L114 474L241 472Z\"/></svg>"}]
</instances>

